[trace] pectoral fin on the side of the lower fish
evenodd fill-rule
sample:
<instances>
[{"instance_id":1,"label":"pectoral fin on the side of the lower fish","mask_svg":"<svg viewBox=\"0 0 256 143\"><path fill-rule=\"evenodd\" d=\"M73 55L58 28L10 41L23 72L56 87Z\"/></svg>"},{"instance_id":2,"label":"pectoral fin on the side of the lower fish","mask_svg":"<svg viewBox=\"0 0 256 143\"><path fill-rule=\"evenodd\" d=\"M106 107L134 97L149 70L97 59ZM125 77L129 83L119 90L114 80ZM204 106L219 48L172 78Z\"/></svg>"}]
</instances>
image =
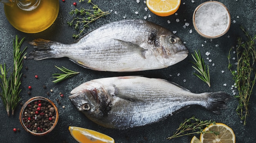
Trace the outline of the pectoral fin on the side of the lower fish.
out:
<instances>
[{"instance_id":1,"label":"pectoral fin on the side of the lower fish","mask_svg":"<svg viewBox=\"0 0 256 143\"><path fill-rule=\"evenodd\" d=\"M130 91L132 91L132 89L129 87L115 87L115 96L131 102L143 102L143 100L134 95L130 95Z\"/></svg>"}]
</instances>

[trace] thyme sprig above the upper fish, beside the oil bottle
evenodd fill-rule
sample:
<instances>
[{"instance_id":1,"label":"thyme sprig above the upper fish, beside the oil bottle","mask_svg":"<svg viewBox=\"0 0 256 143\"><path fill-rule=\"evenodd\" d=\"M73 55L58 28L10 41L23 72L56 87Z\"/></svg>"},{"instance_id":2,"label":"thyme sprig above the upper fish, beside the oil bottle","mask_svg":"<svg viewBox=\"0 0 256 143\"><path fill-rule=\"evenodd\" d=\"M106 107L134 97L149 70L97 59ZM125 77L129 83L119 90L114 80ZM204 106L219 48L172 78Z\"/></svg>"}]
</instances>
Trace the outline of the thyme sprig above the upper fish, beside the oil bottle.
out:
<instances>
[{"instance_id":1,"label":"thyme sprig above the upper fish, beside the oil bottle","mask_svg":"<svg viewBox=\"0 0 256 143\"><path fill-rule=\"evenodd\" d=\"M84 0L79 0L79 2ZM99 9L98 5L93 4L91 0L88 0L88 3L92 4L92 9L74 9L70 11L70 15L80 15L75 17L71 22L67 22L69 26L72 26L74 24L74 28L76 30L79 29L79 26L83 26L83 29L79 31L79 34L73 34L72 37L78 38L82 32L85 30L85 28L89 27L89 24L94 22L95 20L98 20L100 17L103 17L105 15L110 14L108 11L104 12L101 9ZM86 15L84 17L83 15Z\"/></svg>"}]
</instances>

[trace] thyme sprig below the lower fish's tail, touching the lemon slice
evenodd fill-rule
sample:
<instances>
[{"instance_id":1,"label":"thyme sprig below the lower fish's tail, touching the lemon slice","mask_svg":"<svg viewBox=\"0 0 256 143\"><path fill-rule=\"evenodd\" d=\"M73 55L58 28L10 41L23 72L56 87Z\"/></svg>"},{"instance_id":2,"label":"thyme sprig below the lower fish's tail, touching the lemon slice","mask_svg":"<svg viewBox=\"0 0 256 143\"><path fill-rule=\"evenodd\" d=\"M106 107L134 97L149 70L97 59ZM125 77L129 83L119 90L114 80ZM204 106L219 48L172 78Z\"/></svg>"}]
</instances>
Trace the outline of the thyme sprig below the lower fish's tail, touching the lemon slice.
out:
<instances>
[{"instance_id":1,"label":"thyme sprig below the lower fish's tail, touching the lemon slice","mask_svg":"<svg viewBox=\"0 0 256 143\"><path fill-rule=\"evenodd\" d=\"M202 121L200 119L195 118L195 116L193 116L189 119L185 119L184 122L180 124L179 128L177 128L177 131L167 139L182 137L189 134L201 134L201 133L220 134L219 132L215 132L215 131L204 131L204 128L208 127L211 124L215 124L215 121L211 121L211 120Z\"/></svg>"}]
</instances>

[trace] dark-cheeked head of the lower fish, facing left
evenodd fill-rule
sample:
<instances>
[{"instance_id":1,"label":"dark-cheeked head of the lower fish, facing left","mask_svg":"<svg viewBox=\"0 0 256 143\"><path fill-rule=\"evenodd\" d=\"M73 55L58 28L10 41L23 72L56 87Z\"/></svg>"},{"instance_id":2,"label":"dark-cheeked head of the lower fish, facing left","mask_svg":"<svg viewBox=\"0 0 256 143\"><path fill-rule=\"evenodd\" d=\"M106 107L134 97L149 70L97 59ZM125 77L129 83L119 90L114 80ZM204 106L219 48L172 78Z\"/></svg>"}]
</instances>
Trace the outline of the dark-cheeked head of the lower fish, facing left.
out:
<instances>
[{"instance_id":1,"label":"dark-cheeked head of the lower fish, facing left","mask_svg":"<svg viewBox=\"0 0 256 143\"><path fill-rule=\"evenodd\" d=\"M74 106L91 120L103 118L111 109L108 92L95 82L85 82L70 93Z\"/></svg>"}]
</instances>

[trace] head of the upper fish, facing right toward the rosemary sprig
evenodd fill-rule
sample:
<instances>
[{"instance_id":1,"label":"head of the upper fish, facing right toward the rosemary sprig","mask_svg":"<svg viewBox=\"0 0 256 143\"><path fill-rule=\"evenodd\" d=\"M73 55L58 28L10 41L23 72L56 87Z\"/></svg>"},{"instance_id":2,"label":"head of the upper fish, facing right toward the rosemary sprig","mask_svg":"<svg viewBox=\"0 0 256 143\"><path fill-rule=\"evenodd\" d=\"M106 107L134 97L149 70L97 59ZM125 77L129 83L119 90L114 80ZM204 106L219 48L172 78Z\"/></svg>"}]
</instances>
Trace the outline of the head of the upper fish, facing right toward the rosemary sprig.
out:
<instances>
[{"instance_id":1,"label":"head of the upper fish, facing right toward the rosemary sprig","mask_svg":"<svg viewBox=\"0 0 256 143\"><path fill-rule=\"evenodd\" d=\"M188 56L188 49L181 39L169 30L163 30L155 39L155 56L166 67L174 65Z\"/></svg>"}]
</instances>

